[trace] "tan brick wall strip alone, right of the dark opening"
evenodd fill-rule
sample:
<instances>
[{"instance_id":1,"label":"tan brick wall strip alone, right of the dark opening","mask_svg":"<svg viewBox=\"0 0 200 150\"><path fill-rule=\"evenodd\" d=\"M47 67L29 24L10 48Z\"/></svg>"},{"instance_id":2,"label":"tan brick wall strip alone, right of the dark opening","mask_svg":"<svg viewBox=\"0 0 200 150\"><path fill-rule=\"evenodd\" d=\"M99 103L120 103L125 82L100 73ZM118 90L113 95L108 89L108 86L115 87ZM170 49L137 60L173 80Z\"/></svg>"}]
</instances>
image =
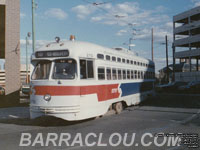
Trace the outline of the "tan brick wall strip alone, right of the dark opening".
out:
<instances>
[{"instance_id":1,"label":"tan brick wall strip alone, right of the dark opening","mask_svg":"<svg viewBox=\"0 0 200 150\"><path fill-rule=\"evenodd\" d=\"M20 89L20 0L6 0L6 95Z\"/></svg>"}]
</instances>

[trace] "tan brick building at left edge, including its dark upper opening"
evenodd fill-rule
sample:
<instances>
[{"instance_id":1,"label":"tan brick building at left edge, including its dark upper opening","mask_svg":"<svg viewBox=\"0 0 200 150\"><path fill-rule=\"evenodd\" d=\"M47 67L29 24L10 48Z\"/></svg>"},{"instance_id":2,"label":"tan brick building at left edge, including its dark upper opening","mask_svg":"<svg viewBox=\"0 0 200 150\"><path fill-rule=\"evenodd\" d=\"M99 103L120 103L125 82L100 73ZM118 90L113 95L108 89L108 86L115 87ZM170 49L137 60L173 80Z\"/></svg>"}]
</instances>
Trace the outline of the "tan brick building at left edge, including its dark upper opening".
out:
<instances>
[{"instance_id":1,"label":"tan brick building at left edge, including its dark upper opening","mask_svg":"<svg viewBox=\"0 0 200 150\"><path fill-rule=\"evenodd\" d=\"M20 89L20 0L0 0L0 59L5 59L6 95Z\"/></svg>"}]
</instances>

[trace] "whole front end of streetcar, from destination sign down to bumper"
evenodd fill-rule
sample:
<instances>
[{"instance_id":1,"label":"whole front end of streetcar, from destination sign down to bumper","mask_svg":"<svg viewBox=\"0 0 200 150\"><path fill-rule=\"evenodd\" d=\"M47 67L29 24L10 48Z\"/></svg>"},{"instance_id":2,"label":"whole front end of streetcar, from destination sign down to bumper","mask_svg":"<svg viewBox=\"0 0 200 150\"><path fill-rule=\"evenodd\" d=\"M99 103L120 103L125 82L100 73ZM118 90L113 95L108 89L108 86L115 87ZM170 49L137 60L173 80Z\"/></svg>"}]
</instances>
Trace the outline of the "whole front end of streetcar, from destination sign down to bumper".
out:
<instances>
[{"instance_id":1,"label":"whole front end of streetcar, from destination sign down to bumper","mask_svg":"<svg viewBox=\"0 0 200 150\"><path fill-rule=\"evenodd\" d=\"M68 50L38 51L32 58L31 119L41 116L78 119L80 88L75 86L77 62L68 55Z\"/></svg>"}]
</instances>

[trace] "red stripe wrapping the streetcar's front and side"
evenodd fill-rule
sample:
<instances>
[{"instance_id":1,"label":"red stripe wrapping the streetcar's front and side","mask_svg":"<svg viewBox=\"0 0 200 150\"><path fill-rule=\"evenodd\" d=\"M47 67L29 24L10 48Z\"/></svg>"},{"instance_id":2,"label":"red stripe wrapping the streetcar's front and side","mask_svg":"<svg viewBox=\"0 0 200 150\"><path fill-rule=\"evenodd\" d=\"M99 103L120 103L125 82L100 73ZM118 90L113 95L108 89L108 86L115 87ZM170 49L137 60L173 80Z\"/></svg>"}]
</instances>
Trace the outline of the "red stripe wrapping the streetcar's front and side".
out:
<instances>
[{"instance_id":1,"label":"red stripe wrapping the streetcar's front and side","mask_svg":"<svg viewBox=\"0 0 200 150\"><path fill-rule=\"evenodd\" d=\"M98 101L118 98L118 84L95 86L35 86L35 95L74 96L97 94Z\"/></svg>"}]
</instances>

